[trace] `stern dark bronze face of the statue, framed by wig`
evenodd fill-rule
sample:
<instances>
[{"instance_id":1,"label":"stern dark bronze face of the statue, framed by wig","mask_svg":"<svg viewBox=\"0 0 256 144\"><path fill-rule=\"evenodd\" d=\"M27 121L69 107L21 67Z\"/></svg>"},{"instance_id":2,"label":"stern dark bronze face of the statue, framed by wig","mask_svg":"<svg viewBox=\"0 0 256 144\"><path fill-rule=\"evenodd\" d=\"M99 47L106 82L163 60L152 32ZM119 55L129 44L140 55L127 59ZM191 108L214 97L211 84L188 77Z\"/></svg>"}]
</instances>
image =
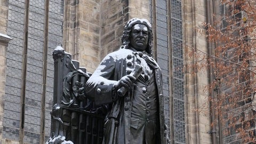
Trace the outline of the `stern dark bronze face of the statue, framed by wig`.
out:
<instances>
[{"instance_id":1,"label":"stern dark bronze face of the statue, framed by wig","mask_svg":"<svg viewBox=\"0 0 256 144\"><path fill-rule=\"evenodd\" d=\"M148 27L136 24L132 27L130 44L137 51L145 51L148 45Z\"/></svg>"}]
</instances>

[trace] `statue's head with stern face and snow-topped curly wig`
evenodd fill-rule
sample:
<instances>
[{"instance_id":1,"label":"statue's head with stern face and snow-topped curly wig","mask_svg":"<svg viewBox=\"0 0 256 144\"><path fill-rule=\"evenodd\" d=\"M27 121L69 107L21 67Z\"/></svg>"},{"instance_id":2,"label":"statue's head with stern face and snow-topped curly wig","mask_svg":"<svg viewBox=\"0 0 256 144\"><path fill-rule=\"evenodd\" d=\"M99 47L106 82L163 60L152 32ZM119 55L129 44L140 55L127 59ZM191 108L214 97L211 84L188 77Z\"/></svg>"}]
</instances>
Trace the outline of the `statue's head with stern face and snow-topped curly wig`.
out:
<instances>
[{"instance_id":1,"label":"statue's head with stern face and snow-topped curly wig","mask_svg":"<svg viewBox=\"0 0 256 144\"><path fill-rule=\"evenodd\" d=\"M146 51L151 56L152 41L152 27L149 21L133 18L124 27L121 48L130 49L130 47L133 47L137 51Z\"/></svg>"}]
</instances>

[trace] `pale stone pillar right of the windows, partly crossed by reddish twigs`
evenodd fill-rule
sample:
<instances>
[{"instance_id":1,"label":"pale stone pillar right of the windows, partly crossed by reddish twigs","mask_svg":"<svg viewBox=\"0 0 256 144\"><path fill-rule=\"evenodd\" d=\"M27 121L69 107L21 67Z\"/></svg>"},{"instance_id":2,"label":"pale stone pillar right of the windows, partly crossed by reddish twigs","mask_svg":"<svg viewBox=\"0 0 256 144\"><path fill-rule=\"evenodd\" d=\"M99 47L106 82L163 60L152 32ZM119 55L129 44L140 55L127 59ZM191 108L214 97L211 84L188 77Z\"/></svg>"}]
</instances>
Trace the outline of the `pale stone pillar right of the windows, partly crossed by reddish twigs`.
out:
<instances>
[{"instance_id":1,"label":"pale stone pillar right of the windows, partly crossed by reddish twigs","mask_svg":"<svg viewBox=\"0 0 256 144\"><path fill-rule=\"evenodd\" d=\"M204 30L202 22L206 21L206 2L203 0L184 1L184 37L185 53L191 48L207 53L207 44L204 35L198 34L195 28ZM196 61L195 57L186 55L185 66ZM193 73L195 69L185 70L185 98L187 100L186 131L188 143L211 143L211 121L208 106L208 92L204 88L209 84L209 71L202 70Z\"/></svg>"}]
</instances>

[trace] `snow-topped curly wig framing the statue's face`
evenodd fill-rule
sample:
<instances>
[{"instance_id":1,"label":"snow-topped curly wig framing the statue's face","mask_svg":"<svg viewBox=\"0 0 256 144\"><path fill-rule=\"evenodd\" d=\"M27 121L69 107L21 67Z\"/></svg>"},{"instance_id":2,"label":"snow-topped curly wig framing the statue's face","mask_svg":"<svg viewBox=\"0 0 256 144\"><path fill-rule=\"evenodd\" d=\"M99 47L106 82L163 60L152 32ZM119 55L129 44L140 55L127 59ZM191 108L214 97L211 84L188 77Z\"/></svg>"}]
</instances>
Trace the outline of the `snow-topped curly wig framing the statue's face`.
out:
<instances>
[{"instance_id":1,"label":"snow-topped curly wig framing the statue's face","mask_svg":"<svg viewBox=\"0 0 256 144\"><path fill-rule=\"evenodd\" d=\"M152 45L153 45L153 34L152 34L152 26L146 19L139 19L139 18L133 18L127 22L127 24L124 27L123 35L122 35L122 46L121 49L129 49L130 47L130 33L132 30L132 27L136 24L142 24L147 26L148 28L148 45L146 48L146 52L148 55L152 55Z\"/></svg>"}]
</instances>

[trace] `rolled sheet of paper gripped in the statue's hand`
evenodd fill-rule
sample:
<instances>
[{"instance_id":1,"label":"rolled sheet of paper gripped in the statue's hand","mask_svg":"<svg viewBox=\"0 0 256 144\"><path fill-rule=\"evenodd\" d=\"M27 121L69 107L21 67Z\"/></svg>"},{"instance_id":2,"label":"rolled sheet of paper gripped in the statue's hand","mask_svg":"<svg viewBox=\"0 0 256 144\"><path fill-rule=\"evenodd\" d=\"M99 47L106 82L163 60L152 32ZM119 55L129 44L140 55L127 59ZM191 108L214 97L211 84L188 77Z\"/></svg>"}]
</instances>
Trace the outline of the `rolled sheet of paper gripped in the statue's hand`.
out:
<instances>
[{"instance_id":1,"label":"rolled sheet of paper gripped in the statue's hand","mask_svg":"<svg viewBox=\"0 0 256 144\"><path fill-rule=\"evenodd\" d=\"M134 76L135 79L137 79L140 74L142 73L142 67L140 65L135 65L133 71L131 72L130 75ZM117 94L119 97L124 97L125 93L127 92L127 88L122 86L120 89L117 90Z\"/></svg>"}]
</instances>

